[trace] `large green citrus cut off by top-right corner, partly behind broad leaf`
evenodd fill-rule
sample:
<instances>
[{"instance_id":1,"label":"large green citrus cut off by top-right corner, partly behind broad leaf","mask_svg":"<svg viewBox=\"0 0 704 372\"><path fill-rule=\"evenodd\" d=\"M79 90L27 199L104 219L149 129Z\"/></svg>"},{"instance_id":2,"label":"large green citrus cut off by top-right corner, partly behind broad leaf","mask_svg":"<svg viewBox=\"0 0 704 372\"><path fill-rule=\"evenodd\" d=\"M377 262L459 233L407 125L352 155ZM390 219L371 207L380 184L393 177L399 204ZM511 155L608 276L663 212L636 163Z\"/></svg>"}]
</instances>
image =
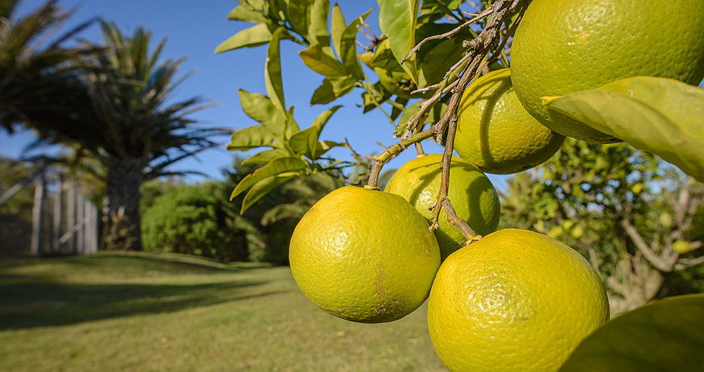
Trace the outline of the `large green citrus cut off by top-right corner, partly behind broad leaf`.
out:
<instances>
[{"instance_id":1,"label":"large green citrus cut off by top-right corner, partly behind broad leaf","mask_svg":"<svg viewBox=\"0 0 704 372\"><path fill-rule=\"evenodd\" d=\"M511 46L511 79L528 112L555 132L615 142L548 111L541 97L634 76L699 84L704 77L703 25L702 0L534 0Z\"/></svg>"}]
</instances>

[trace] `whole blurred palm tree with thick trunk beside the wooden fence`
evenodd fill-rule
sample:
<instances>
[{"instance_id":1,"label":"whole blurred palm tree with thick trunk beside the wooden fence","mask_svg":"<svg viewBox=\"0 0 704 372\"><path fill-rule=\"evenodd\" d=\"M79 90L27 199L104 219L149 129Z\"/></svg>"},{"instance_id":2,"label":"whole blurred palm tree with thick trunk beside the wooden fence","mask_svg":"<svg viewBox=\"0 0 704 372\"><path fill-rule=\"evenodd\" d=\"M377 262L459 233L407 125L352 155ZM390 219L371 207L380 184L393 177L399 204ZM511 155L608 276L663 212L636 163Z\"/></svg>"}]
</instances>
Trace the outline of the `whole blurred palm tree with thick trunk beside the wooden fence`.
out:
<instances>
[{"instance_id":1,"label":"whole blurred palm tree with thick trunk beside the wooden fence","mask_svg":"<svg viewBox=\"0 0 704 372\"><path fill-rule=\"evenodd\" d=\"M139 186L145 179L172 174L168 166L215 145L217 129L194 125L189 115L205 108L201 98L171 102L185 76L177 72L184 58L163 60L165 40L149 51L151 33L138 28L126 37L101 22L104 46L84 58L73 79L54 89L63 96L43 101L42 110L26 118L49 143L73 144L77 155L90 156L105 169L103 245L142 250ZM54 97L54 95L49 95Z\"/></svg>"}]
</instances>

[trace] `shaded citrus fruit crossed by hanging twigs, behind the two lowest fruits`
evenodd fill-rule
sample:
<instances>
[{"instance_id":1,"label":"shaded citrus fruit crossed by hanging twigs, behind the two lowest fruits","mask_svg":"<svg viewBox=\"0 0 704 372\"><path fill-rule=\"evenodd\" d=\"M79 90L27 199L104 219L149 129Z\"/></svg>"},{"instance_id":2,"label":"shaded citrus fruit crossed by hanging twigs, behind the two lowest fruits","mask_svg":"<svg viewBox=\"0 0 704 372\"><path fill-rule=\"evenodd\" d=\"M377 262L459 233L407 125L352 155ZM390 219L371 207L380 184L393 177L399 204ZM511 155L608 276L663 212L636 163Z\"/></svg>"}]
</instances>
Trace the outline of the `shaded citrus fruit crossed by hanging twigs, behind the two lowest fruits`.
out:
<instances>
[{"instance_id":1,"label":"shaded citrus fruit crossed by hanging twigs, behind the two lowest fruits","mask_svg":"<svg viewBox=\"0 0 704 372\"><path fill-rule=\"evenodd\" d=\"M406 162L391 177L384 191L401 195L427 219L428 209L437 199L440 189L442 155L423 155ZM458 217L464 219L475 233L485 235L496 230L501 206L498 195L488 178L477 167L466 160L453 157L450 166L448 197ZM434 231L444 259L462 248L465 238L448 221L445 212L440 212L439 229Z\"/></svg>"}]
</instances>

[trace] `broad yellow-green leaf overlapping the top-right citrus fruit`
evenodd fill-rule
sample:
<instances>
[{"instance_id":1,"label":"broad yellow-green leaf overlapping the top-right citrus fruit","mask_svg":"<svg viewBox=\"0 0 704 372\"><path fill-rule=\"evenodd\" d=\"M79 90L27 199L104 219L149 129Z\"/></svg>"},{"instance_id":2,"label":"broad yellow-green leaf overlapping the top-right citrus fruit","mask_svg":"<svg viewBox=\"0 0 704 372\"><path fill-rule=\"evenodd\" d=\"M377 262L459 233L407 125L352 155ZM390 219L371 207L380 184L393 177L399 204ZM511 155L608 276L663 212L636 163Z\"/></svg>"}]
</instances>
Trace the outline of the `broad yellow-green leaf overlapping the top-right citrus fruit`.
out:
<instances>
[{"instance_id":1,"label":"broad yellow-green leaf overlapping the top-right citrus fruit","mask_svg":"<svg viewBox=\"0 0 704 372\"><path fill-rule=\"evenodd\" d=\"M704 89L661 77L631 77L598 89L543 97L551 110L660 155L704 181Z\"/></svg>"}]
</instances>

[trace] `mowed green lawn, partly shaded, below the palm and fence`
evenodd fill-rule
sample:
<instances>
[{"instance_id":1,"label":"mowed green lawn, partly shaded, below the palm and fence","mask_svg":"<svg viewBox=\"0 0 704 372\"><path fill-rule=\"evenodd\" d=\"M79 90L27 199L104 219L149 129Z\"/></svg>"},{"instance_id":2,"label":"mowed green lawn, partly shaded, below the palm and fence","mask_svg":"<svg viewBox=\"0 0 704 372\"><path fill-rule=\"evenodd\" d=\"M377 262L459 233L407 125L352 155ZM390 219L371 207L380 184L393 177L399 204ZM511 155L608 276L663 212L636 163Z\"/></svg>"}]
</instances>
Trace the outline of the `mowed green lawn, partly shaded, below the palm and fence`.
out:
<instances>
[{"instance_id":1,"label":"mowed green lawn, partly shaded, below the palm and fence","mask_svg":"<svg viewBox=\"0 0 704 372\"><path fill-rule=\"evenodd\" d=\"M0 260L0 371L443 371L425 305L358 324L288 267L184 255Z\"/></svg>"}]
</instances>

